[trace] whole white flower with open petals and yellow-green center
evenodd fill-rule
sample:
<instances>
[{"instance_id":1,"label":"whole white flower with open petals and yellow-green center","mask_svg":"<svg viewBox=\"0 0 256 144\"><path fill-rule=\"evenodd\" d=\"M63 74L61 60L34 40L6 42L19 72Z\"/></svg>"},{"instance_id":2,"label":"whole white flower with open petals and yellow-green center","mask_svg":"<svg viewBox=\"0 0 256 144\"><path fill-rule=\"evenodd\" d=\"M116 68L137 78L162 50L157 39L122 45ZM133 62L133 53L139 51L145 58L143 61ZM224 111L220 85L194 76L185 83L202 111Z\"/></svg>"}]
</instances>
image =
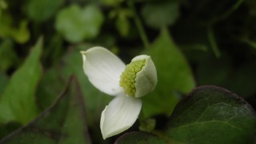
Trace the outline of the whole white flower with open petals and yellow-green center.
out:
<instances>
[{"instance_id":1,"label":"whole white flower with open petals and yellow-green center","mask_svg":"<svg viewBox=\"0 0 256 144\"><path fill-rule=\"evenodd\" d=\"M126 66L100 46L81 54L89 81L103 93L116 96L102 111L102 137L106 139L129 129L142 109L140 97L154 90L158 81L154 62L148 55L139 55Z\"/></svg>"}]
</instances>

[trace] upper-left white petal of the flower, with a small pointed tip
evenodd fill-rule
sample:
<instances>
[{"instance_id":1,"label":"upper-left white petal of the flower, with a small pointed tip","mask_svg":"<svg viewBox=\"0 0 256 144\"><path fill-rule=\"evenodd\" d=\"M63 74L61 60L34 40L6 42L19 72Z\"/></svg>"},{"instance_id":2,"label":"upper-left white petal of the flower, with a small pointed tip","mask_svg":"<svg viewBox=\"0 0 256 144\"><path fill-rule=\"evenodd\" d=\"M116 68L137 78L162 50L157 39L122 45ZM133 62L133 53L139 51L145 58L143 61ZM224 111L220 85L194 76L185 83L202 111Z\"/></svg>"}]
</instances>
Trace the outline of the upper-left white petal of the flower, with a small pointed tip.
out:
<instances>
[{"instance_id":1,"label":"upper-left white petal of the flower, with a small pointed tip","mask_svg":"<svg viewBox=\"0 0 256 144\"><path fill-rule=\"evenodd\" d=\"M109 50L95 46L82 51L83 70L89 81L98 90L110 95L117 95L122 91L119 79L126 65Z\"/></svg>"}]
</instances>

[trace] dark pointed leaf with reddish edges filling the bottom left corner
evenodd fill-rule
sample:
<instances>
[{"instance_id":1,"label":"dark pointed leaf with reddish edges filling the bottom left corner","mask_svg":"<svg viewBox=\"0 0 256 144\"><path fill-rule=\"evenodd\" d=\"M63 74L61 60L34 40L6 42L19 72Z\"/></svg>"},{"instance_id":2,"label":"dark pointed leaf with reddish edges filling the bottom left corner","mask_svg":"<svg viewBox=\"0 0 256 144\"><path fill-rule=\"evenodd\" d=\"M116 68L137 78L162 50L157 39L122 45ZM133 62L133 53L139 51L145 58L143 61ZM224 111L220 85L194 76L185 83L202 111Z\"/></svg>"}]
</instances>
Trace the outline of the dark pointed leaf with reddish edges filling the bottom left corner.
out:
<instances>
[{"instance_id":1,"label":"dark pointed leaf with reddish edges filling the bottom left corner","mask_svg":"<svg viewBox=\"0 0 256 144\"><path fill-rule=\"evenodd\" d=\"M70 78L52 106L0 143L91 143L84 110L78 82Z\"/></svg>"}]
</instances>

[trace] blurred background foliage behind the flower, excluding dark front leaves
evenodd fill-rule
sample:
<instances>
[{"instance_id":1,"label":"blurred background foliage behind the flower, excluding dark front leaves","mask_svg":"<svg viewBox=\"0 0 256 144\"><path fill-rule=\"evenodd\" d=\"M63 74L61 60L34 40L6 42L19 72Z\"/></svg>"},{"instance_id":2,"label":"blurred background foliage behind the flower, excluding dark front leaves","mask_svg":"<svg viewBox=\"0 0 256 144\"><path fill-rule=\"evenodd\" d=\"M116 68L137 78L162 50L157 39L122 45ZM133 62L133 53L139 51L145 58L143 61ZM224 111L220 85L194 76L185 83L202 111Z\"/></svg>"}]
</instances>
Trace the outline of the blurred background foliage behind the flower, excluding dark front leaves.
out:
<instances>
[{"instance_id":1,"label":"blurred background foliage behind the flower, excluding dark front leaves","mask_svg":"<svg viewBox=\"0 0 256 144\"><path fill-rule=\"evenodd\" d=\"M142 99L142 123L154 118L160 126L201 85L225 87L255 107L255 26L254 0L0 0L0 138L54 105L73 74L90 137L102 142L99 119L111 98L82 71L79 51L91 46L104 46L126 63L138 54L152 57L158 86ZM69 106L65 110L75 110ZM62 113L63 122L74 123Z\"/></svg>"}]
</instances>

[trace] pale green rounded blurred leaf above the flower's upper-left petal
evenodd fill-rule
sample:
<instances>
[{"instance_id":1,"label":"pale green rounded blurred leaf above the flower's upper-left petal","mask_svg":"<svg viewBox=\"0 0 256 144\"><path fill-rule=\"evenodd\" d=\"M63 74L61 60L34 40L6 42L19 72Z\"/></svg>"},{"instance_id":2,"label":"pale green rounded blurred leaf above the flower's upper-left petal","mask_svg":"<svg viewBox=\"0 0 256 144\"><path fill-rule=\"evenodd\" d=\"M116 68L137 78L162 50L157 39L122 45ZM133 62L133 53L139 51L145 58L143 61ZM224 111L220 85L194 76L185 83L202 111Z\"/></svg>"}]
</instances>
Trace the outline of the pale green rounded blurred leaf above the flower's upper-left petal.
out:
<instances>
[{"instance_id":1,"label":"pale green rounded blurred leaf above the flower's upper-left petal","mask_svg":"<svg viewBox=\"0 0 256 144\"><path fill-rule=\"evenodd\" d=\"M55 27L67 41L82 42L84 39L96 38L103 18L97 6L88 5L81 8L72 5L59 11Z\"/></svg>"}]
</instances>

